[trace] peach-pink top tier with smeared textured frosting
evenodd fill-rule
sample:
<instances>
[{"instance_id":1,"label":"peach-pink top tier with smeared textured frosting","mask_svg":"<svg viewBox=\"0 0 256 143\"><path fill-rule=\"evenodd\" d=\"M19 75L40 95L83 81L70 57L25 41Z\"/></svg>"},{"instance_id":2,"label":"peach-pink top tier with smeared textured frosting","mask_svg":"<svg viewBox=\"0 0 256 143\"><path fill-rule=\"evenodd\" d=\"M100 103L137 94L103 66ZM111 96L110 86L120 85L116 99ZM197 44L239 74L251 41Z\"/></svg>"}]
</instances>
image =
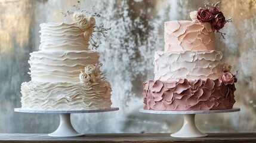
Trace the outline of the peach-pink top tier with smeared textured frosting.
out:
<instances>
[{"instance_id":1,"label":"peach-pink top tier with smeared textured frosting","mask_svg":"<svg viewBox=\"0 0 256 143\"><path fill-rule=\"evenodd\" d=\"M210 23L174 20L165 22L165 51L215 50L214 29Z\"/></svg>"}]
</instances>

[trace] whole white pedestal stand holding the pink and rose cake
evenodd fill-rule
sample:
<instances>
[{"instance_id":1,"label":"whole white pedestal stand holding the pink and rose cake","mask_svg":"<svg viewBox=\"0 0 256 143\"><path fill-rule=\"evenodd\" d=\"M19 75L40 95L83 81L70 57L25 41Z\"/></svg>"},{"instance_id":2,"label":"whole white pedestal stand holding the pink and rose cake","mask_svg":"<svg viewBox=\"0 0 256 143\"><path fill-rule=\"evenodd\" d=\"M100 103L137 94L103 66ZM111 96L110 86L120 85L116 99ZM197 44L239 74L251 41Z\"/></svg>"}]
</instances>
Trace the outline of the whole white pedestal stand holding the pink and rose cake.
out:
<instances>
[{"instance_id":1,"label":"whole white pedestal stand holding the pink and rose cake","mask_svg":"<svg viewBox=\"0 0 256 143\"><path fill-rule=\"evenodd\" d=\"M195 124L195 114L211 114L211 113L228 113L240 111L240 108L232 108L228 110L201 110L201 111L158 111L158 110L139 110L142 113L151 113L151 114L183 114L184 123L183 126L178 132L172 133L171 136L177 138L197 138L205 137L207 134L200 132L196 128Z\"/></svg>"}]
</instances>

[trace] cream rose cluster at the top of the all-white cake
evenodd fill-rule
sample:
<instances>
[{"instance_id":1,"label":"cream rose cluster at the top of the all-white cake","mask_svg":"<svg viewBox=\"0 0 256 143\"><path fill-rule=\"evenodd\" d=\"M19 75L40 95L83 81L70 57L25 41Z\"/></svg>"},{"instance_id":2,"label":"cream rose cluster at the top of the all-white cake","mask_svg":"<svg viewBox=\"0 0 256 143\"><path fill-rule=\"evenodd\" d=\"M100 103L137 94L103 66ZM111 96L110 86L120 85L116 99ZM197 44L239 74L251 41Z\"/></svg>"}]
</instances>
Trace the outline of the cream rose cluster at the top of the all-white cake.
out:
<instances>
[{"instance_id":1,"label":"cream rose cluster at the top of the all-white cake","mask_svg":"<svg viewBox=\"0 0 256 143\"><path fill-rule=\"evenodd\" d=\"M84 38L89 40L90 36L93 33L93 27L95 26L95 18L90 15L90 16L85 16L82 13L79 13L76 11L72 15L72 20L76 23L78 23L78 27L82 30L84 30Z\"/></svg>"}]
</instances>

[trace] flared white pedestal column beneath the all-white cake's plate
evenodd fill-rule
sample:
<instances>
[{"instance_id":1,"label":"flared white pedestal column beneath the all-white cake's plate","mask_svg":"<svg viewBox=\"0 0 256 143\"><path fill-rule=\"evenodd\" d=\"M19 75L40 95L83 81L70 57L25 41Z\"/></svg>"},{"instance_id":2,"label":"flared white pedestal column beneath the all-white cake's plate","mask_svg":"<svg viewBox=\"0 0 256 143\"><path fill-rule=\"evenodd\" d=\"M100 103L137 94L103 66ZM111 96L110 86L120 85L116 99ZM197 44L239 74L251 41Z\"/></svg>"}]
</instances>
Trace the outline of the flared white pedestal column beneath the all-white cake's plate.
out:
<instances>
[{"instance_id":1,"label":"flared white pedestal column beneath the all-white cake's plate","mask_svg":"<svg viewBox=\"0 0 256 143\"><path fill-rule=\"evenodd\" d=\"M70 113L60 113L60 125L58 125L58 129L48 135L55 137L74 137L83 136L84 134L76 132L73 128L70 121Z\"/></svg>"}]
</instances>

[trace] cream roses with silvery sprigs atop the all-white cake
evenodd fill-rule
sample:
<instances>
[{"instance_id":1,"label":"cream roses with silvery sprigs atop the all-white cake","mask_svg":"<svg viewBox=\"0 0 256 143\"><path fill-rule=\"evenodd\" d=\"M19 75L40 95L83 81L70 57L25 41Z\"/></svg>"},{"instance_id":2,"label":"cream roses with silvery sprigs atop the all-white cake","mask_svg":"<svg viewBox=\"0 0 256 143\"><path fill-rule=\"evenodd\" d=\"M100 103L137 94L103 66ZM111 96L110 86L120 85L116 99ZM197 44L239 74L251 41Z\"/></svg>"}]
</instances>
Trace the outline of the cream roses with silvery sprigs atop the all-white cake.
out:
<instances>
[{"instance_id":1,"label":"cream roses with silvery sprigs atop the all-white cake","mask_svg":"<svg viewBox=\"0 0 256 143\"><path fill-rule=\"evenodd\" d=\"M98 13L92 14L92 10L94 7L91 7L91 11L81 10L79 12L81 2L77 2L78 5L73 5L73 7L75 7L78 11L67 11L66 13L61 12L61 14L64 15L64 17L67 17L67 15L72 15L72 21L77 23L78 27L84 31L84 38L90 41L92 49L97 49L99 44L97 43L97 41L95 41L95 35L93 33L99 33L101 36L105 38L106 41L107 31L111 30L111 27L105 28L103 24L100 24L100 26L96 26L96 21L94 17L100 17L101 15ZM100 43L100 39L102 38L101 36L96 37Z\"/></svg>"}]
</instances>

